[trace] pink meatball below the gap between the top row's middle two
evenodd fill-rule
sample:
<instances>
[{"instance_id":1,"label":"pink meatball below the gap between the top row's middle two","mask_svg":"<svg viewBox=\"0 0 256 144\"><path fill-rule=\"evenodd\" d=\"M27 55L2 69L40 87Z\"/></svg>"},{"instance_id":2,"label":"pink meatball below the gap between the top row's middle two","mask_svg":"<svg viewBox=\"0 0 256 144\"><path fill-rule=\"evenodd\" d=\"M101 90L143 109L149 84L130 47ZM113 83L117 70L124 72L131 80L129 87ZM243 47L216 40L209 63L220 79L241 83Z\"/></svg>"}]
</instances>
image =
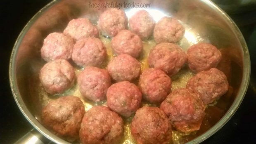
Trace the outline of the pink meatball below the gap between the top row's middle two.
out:
<instances>
[{"instance_id":1,"label":"pink meatball below the gap between the top row's middle two","mask_svg":"<svg viewBox=\"0 0 256 144\"><path fill-rule=\"evenodd\" d=\"M122 30L111 40L111 47L116 54L129 54L137 58L143 49L143 43L135 33Z\"/></svg>"}]
</instances>

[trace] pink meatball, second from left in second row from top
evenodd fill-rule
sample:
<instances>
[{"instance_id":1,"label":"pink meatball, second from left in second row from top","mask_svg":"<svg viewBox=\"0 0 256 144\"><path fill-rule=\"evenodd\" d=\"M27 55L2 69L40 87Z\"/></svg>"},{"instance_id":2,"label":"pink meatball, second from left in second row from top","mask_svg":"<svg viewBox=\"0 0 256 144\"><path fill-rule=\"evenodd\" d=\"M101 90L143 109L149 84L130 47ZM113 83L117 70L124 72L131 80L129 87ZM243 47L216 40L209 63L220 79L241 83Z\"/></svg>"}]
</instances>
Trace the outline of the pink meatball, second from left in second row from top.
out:
<instances>
[{"instance_id":1,"label":"pink meatball, second from left in second row from top","mask_svg":"<svg viewBox=\"0 0 256 144\"><path fill-rule=\"evenodd\" d=\"M78 66L100 66L106 58L106 47L98 38L78 40L72 54L72 60Z\"/></svg>"}]
</instances>

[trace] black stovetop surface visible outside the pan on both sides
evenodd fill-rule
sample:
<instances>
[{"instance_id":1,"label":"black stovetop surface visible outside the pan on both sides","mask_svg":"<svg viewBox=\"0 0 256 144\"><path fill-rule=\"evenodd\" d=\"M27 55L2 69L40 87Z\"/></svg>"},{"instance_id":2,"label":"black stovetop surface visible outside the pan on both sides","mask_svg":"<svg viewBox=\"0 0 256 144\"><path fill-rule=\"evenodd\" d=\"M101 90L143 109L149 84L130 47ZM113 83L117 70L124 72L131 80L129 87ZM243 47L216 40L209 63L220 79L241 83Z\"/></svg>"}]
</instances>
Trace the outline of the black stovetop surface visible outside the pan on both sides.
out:
<instances>
[{"instance_id":1,"label":"black stovetop surface visible outside the pan on both sides","mask_svg":"<svg viewBox=\"0 0 256 144\"><path fill-rule=\"evenodd\" d=\"M12 144L33 126L21 114L9 86L9 58L22 28L51 0L0 2L0 144ZM247 41L251 55L251 80L247 94L235 115L204 144L256 143L256 9L229 14Z\"/></svg>"}]
</instances>

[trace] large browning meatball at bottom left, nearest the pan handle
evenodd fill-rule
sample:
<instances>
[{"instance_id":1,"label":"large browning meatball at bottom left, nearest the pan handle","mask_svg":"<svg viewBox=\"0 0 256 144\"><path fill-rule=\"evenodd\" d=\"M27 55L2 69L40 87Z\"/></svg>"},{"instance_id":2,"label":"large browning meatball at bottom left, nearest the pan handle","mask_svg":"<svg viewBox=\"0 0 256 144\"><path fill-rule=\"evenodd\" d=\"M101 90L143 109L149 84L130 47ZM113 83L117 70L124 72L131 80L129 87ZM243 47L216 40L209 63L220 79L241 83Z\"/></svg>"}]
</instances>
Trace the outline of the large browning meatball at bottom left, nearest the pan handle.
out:
<instances>
[{"instance_id":1,"label":"large browning meatball at bottom left, nearest the pan handle","mask_svg":"<svg viewBox=\"0 0 256 144\"><path fill-rule=\"evenodd\" d=\"M79 138L80 124L85 114L83 102L75 96L51 100L42 111L42 122L55 135L74 141Z\"/></svg>"}]
</instances>

